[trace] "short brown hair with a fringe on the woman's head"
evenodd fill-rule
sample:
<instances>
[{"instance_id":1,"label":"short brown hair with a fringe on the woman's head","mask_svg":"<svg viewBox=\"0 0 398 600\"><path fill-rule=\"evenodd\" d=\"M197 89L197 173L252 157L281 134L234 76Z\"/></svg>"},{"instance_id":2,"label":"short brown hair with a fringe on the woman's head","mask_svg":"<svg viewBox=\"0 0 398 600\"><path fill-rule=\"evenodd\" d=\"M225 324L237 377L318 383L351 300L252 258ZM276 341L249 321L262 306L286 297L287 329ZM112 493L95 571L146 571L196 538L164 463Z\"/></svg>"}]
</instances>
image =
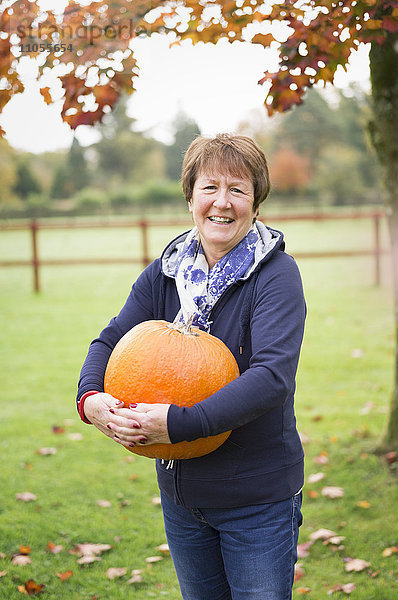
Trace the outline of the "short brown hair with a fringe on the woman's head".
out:
<instances>
[{"instance_id":1,"label":"short brown hair with a fringe on the woman's head","mask_svg":"<svg viewBox=\"0 0 398 600\"><path fill-rule=\"evenodd\" d=\"M245 135L220 133L214 138L197 137L185 153L181 182L187 201L199 174L229 173L250 177L254 188L253 210L268 196L271 185L267 160L261 148Z\"/></svg>"}]
</instances>

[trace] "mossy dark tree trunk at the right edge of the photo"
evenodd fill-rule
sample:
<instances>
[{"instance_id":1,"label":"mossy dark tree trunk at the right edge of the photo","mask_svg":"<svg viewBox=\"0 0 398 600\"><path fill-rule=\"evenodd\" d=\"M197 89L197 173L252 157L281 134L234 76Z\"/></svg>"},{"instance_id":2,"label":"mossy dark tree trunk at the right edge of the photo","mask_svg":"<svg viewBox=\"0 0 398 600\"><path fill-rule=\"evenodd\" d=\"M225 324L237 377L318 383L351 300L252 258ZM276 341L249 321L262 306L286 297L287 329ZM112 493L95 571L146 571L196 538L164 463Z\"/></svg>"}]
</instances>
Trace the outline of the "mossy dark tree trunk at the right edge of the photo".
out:
<instances>
[{"instance_id":1,"label":"mossy dark tree trunk at the right edge of the photo","mask_svg":"<svg viewBox=\"0 0 398 600\"><path fill-rule=\"evenodd\" d=\"M398 34L389 33L384 44L370 50L373 119L369 124L372 143L383 168L387 191L386 213L391 237L394 311L395 382L382 448L398 447Z\"/></svg>"}]
</instances>

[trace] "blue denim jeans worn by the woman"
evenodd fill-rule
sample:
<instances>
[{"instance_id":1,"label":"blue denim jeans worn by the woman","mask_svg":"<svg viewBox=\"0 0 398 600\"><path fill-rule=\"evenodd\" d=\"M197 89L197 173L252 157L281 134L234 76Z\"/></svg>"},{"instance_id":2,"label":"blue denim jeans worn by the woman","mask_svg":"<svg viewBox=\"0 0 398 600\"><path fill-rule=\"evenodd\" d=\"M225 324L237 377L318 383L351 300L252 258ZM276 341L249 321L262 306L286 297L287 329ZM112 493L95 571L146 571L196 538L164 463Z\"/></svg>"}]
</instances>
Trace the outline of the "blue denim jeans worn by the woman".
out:
<instances>
[{"instance_id":1,"label":"blue denim jeans worn by the woman","mask_svg":"<svg viewBox=\"0 0 398 600\"><path fill-rule=\"evenodd\" d=\"M184 508L165 494L167 541L183 600L290 600L301 493L241 508Z\"/></svg>"}]
</instances>

